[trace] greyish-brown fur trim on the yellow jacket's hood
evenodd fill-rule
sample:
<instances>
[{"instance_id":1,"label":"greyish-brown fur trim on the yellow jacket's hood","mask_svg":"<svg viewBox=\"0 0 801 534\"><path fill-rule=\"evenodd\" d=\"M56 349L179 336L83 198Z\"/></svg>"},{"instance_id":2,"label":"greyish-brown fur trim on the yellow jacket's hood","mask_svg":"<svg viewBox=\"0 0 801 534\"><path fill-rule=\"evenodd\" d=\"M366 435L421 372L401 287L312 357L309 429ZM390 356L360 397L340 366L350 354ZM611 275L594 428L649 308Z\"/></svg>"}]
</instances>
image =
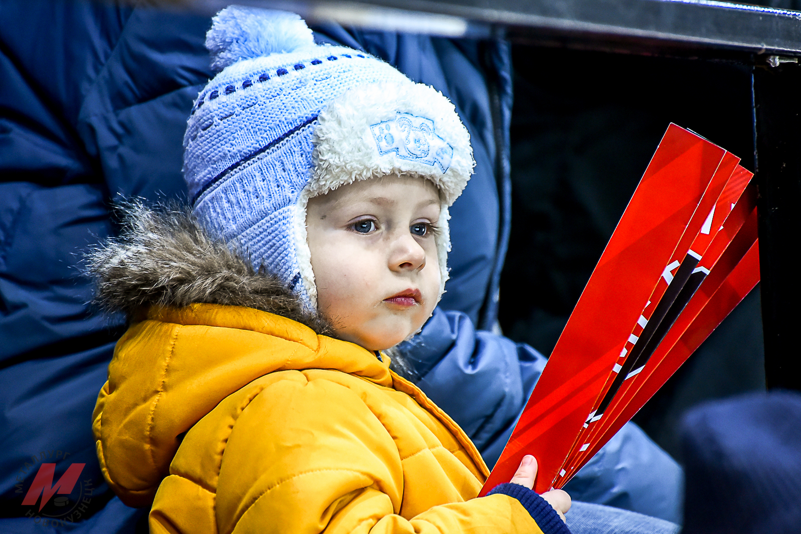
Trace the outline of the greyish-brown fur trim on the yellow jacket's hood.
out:
<instances>
[{"instance_id":1,"label":"greyish-brown fur trim on the yellow jacket's hood","mask_svg":"<svg viewBox=\"0 0 801 534\"><path fill-rule=\"evenodd\" d=\"M151 306L192 303L252 307L330 335L328 321L304 307L277 276L256 269L203 229L188 208L119 207L122 231L87 255L95 278L95 303L129 319Z\"/></svg>"}]
</instances>

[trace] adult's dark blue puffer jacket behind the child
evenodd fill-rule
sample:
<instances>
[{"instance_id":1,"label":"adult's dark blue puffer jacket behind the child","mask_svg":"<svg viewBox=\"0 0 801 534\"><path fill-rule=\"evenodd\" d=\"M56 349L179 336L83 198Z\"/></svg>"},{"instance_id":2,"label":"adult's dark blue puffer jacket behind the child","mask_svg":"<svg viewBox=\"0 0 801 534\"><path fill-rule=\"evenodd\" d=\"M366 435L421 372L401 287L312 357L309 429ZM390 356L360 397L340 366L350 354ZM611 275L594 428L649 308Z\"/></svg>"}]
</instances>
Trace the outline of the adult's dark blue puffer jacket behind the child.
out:
<instances>
[{"instance_id":1,"label":"adult's dark blue puffer jacket behind the child","mask_svg":"<svg viewBox=\"0 0 801 534\"><path fill-rule=\"evenodd\" d=\"M135 532L144 514L103 483L91 436L123 319L87 304L79 263L115 232L114 199L185 197L181 139L211 77L210 19L0 0L0 21L0 532ZM408 374L493 464L545 364L487 331L509 231L508 46L338 26L316 38L368 50L441 90L469 129L477 167L451 210L448 292L402 350ZM630 426L572 483L573 495L675 520L680 477ZM38 499L22 504L31 487Z\"/></svg>"}]
</instances>

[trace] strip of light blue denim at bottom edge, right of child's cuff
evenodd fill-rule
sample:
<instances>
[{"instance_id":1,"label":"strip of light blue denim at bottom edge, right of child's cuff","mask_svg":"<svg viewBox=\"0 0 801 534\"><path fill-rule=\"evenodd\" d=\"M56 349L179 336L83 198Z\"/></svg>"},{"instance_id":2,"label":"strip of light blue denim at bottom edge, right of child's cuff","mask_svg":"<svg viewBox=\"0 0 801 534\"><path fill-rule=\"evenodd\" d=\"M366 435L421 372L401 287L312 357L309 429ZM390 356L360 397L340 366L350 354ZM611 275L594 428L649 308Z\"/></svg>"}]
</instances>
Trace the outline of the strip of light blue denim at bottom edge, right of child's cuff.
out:
<instances>
[{"instance_id":1,"label":"strip of light blue denim at bottom edge, right of child's cuff","mask_svg":"<svg viewBox=\"0 0 801 534\"><path fill-rule=\"evenodd\" d=\"M574 501L565 514L572 534L677 534L678 524L603 504Z\"/></svg>"}]
</instances>

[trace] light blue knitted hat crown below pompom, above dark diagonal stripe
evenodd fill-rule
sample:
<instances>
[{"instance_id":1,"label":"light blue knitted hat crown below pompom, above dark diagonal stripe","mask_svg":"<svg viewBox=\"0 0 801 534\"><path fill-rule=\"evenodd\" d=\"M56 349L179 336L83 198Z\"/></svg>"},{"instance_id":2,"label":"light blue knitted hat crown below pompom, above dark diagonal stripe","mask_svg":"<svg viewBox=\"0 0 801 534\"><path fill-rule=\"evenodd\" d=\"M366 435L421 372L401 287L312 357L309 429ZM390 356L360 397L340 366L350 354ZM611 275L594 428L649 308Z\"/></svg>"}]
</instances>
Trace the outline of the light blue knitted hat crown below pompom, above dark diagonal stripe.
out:
<instances>
[{"instance_id":1,"label":"light blue knitted hat crown below pompom, above dark diagonal stripe","mask_svg":"<svg viewBox=\"0 0 801 534\"><path fill-rule=\"evenodd\" d=\"M228 66L201 91L187 123L183 172L190 199L231 165L315 118L351 86L388 81L413 83L380 59L342 46L314 46ZM307 171L305 183L312 151L295 148L297 163Z\"/></svg>"}]
</instances>

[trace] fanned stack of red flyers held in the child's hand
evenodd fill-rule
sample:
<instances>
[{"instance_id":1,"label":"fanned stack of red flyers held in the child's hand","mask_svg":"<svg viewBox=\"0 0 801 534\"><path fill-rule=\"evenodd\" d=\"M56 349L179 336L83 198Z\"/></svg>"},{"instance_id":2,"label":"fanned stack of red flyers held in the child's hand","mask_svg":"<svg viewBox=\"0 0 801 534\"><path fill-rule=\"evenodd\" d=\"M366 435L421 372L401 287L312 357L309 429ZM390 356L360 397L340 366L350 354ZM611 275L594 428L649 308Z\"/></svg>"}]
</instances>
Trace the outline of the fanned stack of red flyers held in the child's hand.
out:
<instances>
[{"instance_id":1,"label":"fanned stack of red flyers held in the child's hand","mask_svg":"<svg viewBox=\"0 0 801 534\"><path fill-rule=\"evenodd\" d=\"M526 454L562 488L754 288L752 176L668 127L481 495Z\"/></svg>"}]
</instances>

